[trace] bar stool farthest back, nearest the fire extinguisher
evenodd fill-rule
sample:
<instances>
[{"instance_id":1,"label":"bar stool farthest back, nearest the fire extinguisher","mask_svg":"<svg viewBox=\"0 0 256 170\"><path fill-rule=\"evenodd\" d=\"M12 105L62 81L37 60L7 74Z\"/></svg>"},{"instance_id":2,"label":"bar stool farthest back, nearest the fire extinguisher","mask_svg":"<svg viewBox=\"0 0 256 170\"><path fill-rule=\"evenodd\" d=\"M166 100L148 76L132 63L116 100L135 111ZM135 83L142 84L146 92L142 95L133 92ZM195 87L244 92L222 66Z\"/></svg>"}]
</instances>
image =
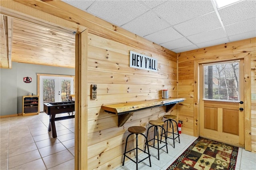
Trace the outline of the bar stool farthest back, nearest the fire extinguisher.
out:
<instances>
[{"instance_id":1,"label":"bar stool farthest back, nearest the fire extinguisher","mask_svg":"<svg viewBox=\"0 0 256 170\"><path fill-rule=\"evenodd\" d=\"M167 119L166 121L164 121L164 123L167 122L166 132L164 132L164 133L166 133L166 135L164 135L164 136L173 140L173 148L175 148L174 140L176 138L179 138L179 143L180 143L180 134L178 133L178 131L177 131L177 133L174 133L174 128L173 128L173 122L175 122L176 126L177 126L177 130L178 130L178 123L175 121L175 119L177 119L177 116L175 116L175 115L164 115L164 118ZM168 131L168 124L169 124L170 128L171 128L171 124L172 124L172 132ZM172 133L172 137L168 137L168 133ZM162 140L162 134L163 134L163 131L161 132L161 140ZM177 136L174 137L174 134L177 135Z\"/></svg>"}]
</instances>

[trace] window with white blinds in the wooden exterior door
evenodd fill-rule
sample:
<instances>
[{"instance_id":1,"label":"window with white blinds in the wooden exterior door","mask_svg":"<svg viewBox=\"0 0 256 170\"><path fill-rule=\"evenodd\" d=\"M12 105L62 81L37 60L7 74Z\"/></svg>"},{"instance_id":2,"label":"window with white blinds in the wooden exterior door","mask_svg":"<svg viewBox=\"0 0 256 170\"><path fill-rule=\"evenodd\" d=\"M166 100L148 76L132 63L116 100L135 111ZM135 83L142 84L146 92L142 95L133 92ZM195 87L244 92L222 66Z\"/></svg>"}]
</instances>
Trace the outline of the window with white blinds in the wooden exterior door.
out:
<instances>
[{"instance_id":1,"label":"window with white blinds in the wooden exterior door","mask_svg":"<svg viewBox=\"0 0 256 170\"><path fill-rule=\"evenodd\" d=\"M203 100L240 101L239 61L202 65Z\"/></svg>"}]
</instances>

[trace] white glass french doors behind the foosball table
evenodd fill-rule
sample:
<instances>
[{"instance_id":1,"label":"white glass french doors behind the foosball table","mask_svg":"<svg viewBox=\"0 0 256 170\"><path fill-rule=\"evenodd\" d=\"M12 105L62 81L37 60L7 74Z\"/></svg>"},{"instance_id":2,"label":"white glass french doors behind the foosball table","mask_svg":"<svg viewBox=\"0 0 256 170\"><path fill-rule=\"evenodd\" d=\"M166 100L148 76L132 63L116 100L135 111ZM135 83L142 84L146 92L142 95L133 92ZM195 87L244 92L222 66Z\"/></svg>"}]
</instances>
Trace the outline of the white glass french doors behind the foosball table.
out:
<instances>
[{"instance_id":1,"label":"white glass french doors behind the foosball table","mask_svg":"<svg viewBox=\"0 0 256 170\"><path fill-rule=\"evenodd\" d=\"M40 76L40 112L44 111L44 103L63 102L72 94L73 77Z\"/></svg>"}]
</instances>

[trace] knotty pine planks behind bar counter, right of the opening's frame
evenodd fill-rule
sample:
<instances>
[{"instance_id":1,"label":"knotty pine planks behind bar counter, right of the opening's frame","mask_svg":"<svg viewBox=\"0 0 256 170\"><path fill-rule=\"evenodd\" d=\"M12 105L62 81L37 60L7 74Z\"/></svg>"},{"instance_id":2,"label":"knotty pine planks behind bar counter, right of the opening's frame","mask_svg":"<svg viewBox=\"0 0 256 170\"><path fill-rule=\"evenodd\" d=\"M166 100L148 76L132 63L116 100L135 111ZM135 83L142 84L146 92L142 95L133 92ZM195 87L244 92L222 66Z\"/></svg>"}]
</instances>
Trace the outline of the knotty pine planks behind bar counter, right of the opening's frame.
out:
<instances>
[{"instance_id":1,"label":"knotty pine planks behind bar counter, right of the opening's frame","mask_svg":"<svg viewBox=\"0 0 256 170\"><path fill-rule=\"evenodd\" d=\"M129 51L158 60L158 72L129 67ZM148 127L148 121L162 119L165 107L136 111L123 127L118 117L106 113L101 105L162 98L162 89L177 96L176 56L172 60L154 50L136 49L94 34L88 34L88 85L97 85L97 99L90 99L88 88L88 169L110 169L122 163L124 143L130 126ZM172 114L177 114L173 109ZM170 112L168 114L170 114ZM140 136L140 135L139 135ZM134 136L133 136L134 137ZM133 138L130 138L133 146ZM143 146L144 138L140 137Z\"/></svg>"}]
</instances>

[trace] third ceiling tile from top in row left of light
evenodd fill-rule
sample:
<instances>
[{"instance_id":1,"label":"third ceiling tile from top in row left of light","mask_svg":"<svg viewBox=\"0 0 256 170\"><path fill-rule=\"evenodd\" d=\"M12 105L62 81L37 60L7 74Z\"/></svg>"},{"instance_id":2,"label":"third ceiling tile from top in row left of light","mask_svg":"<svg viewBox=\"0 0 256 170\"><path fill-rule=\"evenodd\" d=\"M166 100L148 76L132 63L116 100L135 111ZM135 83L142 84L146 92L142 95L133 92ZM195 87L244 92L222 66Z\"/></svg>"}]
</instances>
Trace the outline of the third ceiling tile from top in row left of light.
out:
<instances>
[{"instance_id":1,"label":"third ceiling tile from top in row left of light","mask_svg":"<svg viewBox=\"0 0 256 170\"><path fill-rule=\"evenodd\" d=\"M194 34L192 36L188 36L187 38L193 43L202 43L224 38L226 36L226 32L224 32L222 27L220 27L214 30Z\"/></svg>"}]
</instances>

